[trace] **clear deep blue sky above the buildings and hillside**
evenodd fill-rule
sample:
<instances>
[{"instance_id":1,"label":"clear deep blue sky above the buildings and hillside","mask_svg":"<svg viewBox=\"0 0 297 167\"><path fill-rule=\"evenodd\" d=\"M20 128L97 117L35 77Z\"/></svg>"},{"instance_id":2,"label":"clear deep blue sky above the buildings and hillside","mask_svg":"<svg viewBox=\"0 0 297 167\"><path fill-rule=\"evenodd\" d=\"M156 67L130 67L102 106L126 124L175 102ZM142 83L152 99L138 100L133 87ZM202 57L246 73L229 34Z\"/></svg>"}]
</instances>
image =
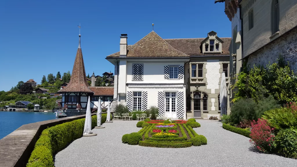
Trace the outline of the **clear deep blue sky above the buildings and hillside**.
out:
<instances>
[{"instance_id":1,"label":"clear deep blue sky above the buildings and hillside","mask_svg":"<svg viewBox=\"0 0 297 167\"><path fill-rule=\"evenodd\" d=\"M209 31L231 37L225 3L192 1L2 1L0 90L18 81L72 72L81 48L86 74L114 71L105 57L119 51L120 34L132 45L154 31L162 38L202 38Z\"/></svg>"}]
</instances>

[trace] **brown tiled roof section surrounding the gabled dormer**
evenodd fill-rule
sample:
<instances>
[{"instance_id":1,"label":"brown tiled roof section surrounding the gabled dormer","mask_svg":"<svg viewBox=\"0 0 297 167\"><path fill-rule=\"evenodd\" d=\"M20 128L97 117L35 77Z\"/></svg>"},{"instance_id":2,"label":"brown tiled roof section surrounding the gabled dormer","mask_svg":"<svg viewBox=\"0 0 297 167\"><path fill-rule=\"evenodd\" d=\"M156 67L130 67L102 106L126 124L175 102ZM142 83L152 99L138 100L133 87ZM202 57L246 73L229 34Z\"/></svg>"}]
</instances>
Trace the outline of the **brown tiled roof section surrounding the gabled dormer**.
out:
<instances>
[{"instance_id":1,"label":"brown tiled roof section surrounding the gabled dormer","mask_svg":"<svg viewBox=\"0 0 297 167\"><path fill-rule=\"evenodd\" d=\"M220 38L224 42L222 43L222 53L221 54L203 54L201 42L205 38L185 38L185 39L164 39L173 48L186 53L189 56L202 56L202 55L230 55L229 46L231 43L231 38Z\"/></svg>"}]
</instances>

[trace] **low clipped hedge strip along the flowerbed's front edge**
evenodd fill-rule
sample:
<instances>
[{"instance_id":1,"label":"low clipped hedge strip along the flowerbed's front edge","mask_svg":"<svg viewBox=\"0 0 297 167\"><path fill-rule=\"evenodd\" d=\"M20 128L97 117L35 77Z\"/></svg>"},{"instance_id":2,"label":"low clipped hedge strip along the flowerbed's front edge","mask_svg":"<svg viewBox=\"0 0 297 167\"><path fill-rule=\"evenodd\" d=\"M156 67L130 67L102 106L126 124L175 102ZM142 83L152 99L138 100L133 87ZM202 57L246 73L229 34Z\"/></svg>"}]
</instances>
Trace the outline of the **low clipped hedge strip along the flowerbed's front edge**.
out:
<instances>
[{"instance_id":1,"label":"low clipped hedge strip along the flowerbed's front edge","mask_svg":"<svg viewBox=\"0 0 297 167\"><path fill-rule=\"evenodd\" d=\"M182 142L182 143L159 143L159 142L150 142L150 141L139 141L140 146L147 147L160 147L160 148L183 148L192 146L191 142Z\"/></svg>"}]
</instances>

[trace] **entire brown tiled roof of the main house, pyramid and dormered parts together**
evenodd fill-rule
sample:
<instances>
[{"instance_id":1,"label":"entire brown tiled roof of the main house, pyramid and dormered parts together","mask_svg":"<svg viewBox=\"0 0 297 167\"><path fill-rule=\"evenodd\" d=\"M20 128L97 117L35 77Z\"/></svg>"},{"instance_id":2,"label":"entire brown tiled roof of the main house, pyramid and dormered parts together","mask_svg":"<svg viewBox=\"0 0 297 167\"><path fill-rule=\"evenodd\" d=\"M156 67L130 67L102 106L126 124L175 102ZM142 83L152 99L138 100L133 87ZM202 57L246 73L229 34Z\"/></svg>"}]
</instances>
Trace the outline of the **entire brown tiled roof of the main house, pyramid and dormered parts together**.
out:
<instances>
[{"instance_id":1,"label":"entire brown tiled roof of the main house, pyramid and dormered parts together","mask_svg":"<svg viewBox=\"0 0 297 167\"><path fill-rule=\"evenodd\" d=\"M209 34L217 34L211 31ZM127 57L189 57L210 55L202 53L202 43L206 38L181 38L181 39L162 39L154 31L143 37L134 45L127 46ZM229 46L231 38L219 38L222 43L221 54L211 54L214 56L230 55ZM120 52L113 53L107 58L119 57Z\"/></svg>"}]
</instances>

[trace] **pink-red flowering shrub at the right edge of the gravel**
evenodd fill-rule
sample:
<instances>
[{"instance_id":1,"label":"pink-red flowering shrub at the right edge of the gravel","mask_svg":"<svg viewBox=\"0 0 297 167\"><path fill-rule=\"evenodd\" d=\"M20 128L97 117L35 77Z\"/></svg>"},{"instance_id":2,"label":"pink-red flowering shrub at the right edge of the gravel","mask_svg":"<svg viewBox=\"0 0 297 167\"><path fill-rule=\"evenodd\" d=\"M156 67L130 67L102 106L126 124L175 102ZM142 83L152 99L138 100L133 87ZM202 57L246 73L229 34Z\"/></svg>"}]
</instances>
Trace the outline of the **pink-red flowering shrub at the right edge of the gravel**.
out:
<instances>
[{"instance_id":1,"label":"pink-red flowering shrub at the right edge of the gravel","mask_svg":"<svg viewBox=\"0 0 297 167\"><path fill-rule=\"evenodd\" d=\"M256 122L253 120L251 123L252 129L249 140L253 146L259 151L271 152L273 150L274 143L274 128L270 128L265 119L258 119Z\"/></svg>"}]
</instances>

